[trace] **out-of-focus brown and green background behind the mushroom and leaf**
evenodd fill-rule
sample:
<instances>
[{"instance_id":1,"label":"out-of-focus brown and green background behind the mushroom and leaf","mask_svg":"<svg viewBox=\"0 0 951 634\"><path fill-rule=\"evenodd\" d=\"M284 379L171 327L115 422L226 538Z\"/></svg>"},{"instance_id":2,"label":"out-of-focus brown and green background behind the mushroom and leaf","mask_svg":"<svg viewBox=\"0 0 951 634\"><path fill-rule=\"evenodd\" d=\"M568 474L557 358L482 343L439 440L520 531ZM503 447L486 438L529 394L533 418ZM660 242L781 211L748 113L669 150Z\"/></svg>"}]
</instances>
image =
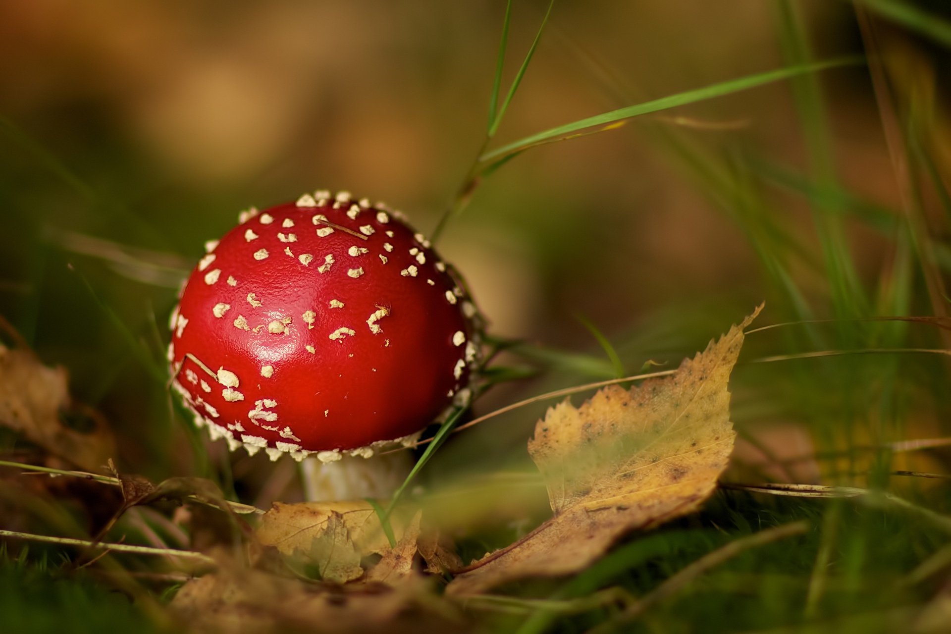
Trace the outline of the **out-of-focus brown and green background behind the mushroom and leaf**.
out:
<instances>
[{"instance_id":1,"label":"out-of-focus brown and green background behind the mushroom and leaf","mask_svg":"<svg viewBox=\"0 0 951 634\"><path fill-rule=\"evenodd\" d=\"M515 5L503 88L545 10ZM535 148L480 184L439 249L491 332L526 342L503 361L544 373L495 388L478 413L614 375L584 320L633 373L676 364L762 300L763 323L947 311L948 49L860 10L891 112L867 67L840 67ZM0 5L0 314L68 368L75 397L117 433L125 469L201 471L195 451L176 449L187 434L161 369L166 317L204 240L247 206L322 187L388 202L430 231L482 142L503 13L500 0ZM559 2L495 143L862 55L867 40L847 2ZM932 171L909 177L885 130L912 118ZM940 345L930 326L854 322L749 342L750 358ZM741 366L738 423L792 453L909 428L941 435L941 361L883 356ZM474 469L524 462L543 408L450 443L433 472L460 457ZM234 460L239 480L271 473L261 456ZM264 476L248 476L262 504L296 494L292 467L279 469L281 485L263 490Z\"/></svg>"}]
</instances>

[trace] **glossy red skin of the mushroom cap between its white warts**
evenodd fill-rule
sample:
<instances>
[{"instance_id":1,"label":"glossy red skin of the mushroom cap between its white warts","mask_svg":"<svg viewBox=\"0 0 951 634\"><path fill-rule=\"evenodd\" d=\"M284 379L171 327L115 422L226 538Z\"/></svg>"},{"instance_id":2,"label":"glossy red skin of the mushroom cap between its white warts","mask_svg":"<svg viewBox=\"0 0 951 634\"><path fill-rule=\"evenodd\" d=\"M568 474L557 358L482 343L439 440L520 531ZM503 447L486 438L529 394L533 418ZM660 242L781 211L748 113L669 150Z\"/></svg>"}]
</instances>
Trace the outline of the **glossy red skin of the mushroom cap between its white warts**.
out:
<instances>
[{"instance_id":1,"label":"glossy red skin of the mushroom cap between its white warts","mask_svg":"<svg viewBox=\"0 0 951 634\"><path fill-rule=\"evenodd\" d=\"M176 380L196 411L237 440L246 435L265 439L269 447L280 442L325 451L395 439L432 422L451 403L449 393L467 383L468 368L454 374L466 343L453 339L461 331L468 342L473 333L462 314L464 298L456 303L446 298L447 291L458 290L448 273L437 270L437 254L423 248L413 230L392 213L386 223L378 221L374 208L351 219L346 212L352 202L339 209L331 208L332 203L282 204L244 221L225 234L211 252L215 258L204 270L196 267L184 288L179 313L187 323L181 336L172 330ZM273 218L271 223L262 223L265 214ZM370 225L374 233L361 240L337 228L321 238L317 230L326 225L314 223L316 214L360 235L359 227ZM294 225L282 226L287 219ZM246 240L248 229L258 238ZM279 233L284 240L290 240L290 234L296 240L282 241ZM392 251L384 243L391 244ZM348 250L354 246L368 252L353 257ZM423 253L425 263L410 253L414 248ZM255 259L261 249L267 257ZM313 256L307 265L299 259L303 254ZM327 254L334 263L320 273ZM410 265L417 267L417 275L401 275ZM358 278L348 275L359 267L363 274ZM216 269L221 272L218 279L206 283L205 276ZM249 293L262 305L252 305ZM331 308L332 299L344 307ZM229 306L222 317L214 313L218 304ZM381 332L375 334L367 319L380 307L389 315L378 319ZM306 311L315 314L313 327L302 317ZM248 330L235 325L240 316ZM286 333L268 331L268 324L287 317ZM355 334L331 339L340 328ZM307 345L313 346L313 354ZM243 400L225 400L225 386L186 354L213 373L223 368L237 375L235 390ZM266 365L273 367L270 377L262 376ZM276 405L262 402L257 407L264 399ZM277 418L263 420L262 414L252 414L256 409Z\"/></svg>"}]
</instances>

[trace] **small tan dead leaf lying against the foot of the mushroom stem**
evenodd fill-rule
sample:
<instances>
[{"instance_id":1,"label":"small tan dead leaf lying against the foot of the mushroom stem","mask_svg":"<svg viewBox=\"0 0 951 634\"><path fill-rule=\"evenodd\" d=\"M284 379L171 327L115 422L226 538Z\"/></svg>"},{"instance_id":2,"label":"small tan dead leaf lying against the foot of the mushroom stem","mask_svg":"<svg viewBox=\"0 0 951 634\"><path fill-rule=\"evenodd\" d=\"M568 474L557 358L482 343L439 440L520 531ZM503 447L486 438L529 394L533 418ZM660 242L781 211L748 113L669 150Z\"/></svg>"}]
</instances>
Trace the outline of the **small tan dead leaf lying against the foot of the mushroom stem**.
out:
<instances>
[{"instance_id":1,"label":"small tan dead leaf lying against the foot of the mushroom stem","mask_svg":"<svg viewBox=\"0 0 951 634\"><path fill-rule=\"evenodd\" d=\"M361 555L382 554L390 548L390 541L379 524L377 511L363 500L345 502L275 502L262 516L257 530L258 540L265 546L274 546L285 555L310 552L311 542L328 528L334 514L340 515L350 540ZM406 527L404 516L390 517L394 537L399 540Z\"/></svg>"}]
</instances>

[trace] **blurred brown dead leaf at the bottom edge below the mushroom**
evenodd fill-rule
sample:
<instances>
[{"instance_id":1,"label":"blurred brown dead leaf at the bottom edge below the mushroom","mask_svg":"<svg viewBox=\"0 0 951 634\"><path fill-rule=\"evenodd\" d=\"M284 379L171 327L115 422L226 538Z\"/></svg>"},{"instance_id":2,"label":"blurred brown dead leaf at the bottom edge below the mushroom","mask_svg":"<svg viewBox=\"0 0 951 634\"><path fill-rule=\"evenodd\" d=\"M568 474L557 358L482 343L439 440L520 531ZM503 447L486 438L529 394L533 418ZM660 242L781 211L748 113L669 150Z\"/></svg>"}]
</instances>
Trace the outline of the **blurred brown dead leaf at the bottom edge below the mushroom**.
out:
<instances>
[{"instance_id":1,"label":"blurred brown dead leaf at the bottom edge below the mushroom","mask_svg":"<svg viewBox=\"0 0 951 634\"><path fill-rule=\"evenodd\" d=\"M226 564L186 583L171 609L192 631L216 634L468 629L456 608L434 595L421 578L392 587L329 587Z\"/></svg>"}]
</instances>

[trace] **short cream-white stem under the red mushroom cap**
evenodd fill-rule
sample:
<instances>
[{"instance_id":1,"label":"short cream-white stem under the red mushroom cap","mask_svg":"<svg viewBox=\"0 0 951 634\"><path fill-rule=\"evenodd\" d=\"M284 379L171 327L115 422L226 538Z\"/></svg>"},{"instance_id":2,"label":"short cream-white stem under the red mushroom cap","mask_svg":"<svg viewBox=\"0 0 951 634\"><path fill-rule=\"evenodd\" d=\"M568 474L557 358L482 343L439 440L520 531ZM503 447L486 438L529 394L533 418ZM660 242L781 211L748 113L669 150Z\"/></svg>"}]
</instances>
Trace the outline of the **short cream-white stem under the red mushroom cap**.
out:
<instances>
[{"instance_id":1,"label":"short cream-white stem under the red mushroom cap","mask_svg":"<svg viewBox=\"0 0 951 634\"><path fill-rule=\"evenodd\" d=\"M386 499L413 469L411 451L395 451L371 458L344 455L336 462L317 458L301 461L304 496L308 502Z\"/></svg>"}]
</instances>

